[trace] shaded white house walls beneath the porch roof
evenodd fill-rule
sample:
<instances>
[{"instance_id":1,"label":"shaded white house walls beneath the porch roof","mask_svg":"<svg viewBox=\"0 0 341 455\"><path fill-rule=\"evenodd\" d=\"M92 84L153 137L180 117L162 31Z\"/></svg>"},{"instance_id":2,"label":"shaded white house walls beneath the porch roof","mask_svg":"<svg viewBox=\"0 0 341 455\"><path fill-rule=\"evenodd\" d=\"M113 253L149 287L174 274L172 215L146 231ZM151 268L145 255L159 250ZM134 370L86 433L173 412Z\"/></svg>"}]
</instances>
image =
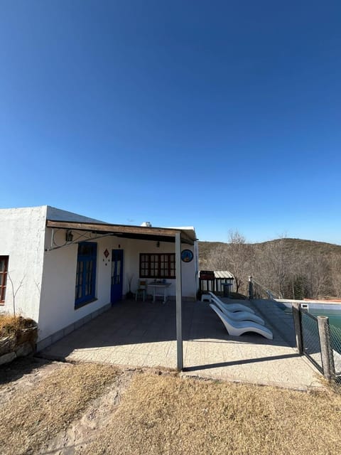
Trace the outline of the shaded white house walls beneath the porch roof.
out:
<instances>
[{"instance_id":1,"label":"shaded white house walls beneath the porch roof","mask_svg":"<svg viewBox=\"0 0 341 455\"><path fill-rule=\"evenodd\" d=\"M89 233L72 230L74 241L86 240L84 235ZM53 235L53 239L52 239ZM92 235L95 237L95 235ZM51 241L52 239L52 241ZM90 240L90 239L88 239ZM132 278L131 291L135 291L139 280L139 254L142 252L160 253L175 252L175 244L161 242L156 247L155 241L130 240L114 237L112 235L91 239L97 242L97 300L90 304L75 309L75 279L77 268L77 244L65 245L65 230L52 230L48 228L45 235L43 284L41 287L41 305L39 313L39 341L59 333L57 338L65 335L65 328L70 326L70 331L75 328L77 321L87 321L92 314L97 314L110 303L111 291L111 255L112 250L124 250L123 294L129 291L128 278ZM51 247L57 249L50 250ZM195 247L183 245L183 248L193 250L195 255L192 262L182 263L183 296L195 299L197 292L197 256ZM108 258L104 251L108 250ZM153 281L152 279L149 281ZM175 279L168 289L168 295L175 296ZM73 325L73 326L72 326ZM55 339L53 341L55 341Z\"/></svg>"}]
</instances>

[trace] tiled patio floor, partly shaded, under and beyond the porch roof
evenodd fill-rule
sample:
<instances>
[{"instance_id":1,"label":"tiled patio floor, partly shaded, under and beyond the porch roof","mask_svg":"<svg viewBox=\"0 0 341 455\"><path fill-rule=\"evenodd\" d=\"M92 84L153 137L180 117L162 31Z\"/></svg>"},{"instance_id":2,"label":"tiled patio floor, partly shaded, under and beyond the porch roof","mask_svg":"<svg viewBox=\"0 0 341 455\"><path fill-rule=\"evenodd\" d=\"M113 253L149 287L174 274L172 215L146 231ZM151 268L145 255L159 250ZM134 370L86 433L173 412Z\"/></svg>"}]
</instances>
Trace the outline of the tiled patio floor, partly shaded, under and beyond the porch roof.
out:
<instances>
[{"instance_id":1,"label":"tiled patio floor, partly shaded, under and beyond the porch roof","mask_svg":"<svg viewBox=\"0 0 341 455\"><path fill-rule=\"evenodd\" d=\"M293 348L291 316L271 311L272 304L253 305L262 317L265 311L274 340L257 334L229 336L206 302L183 302L183 374L300 389L320 386L319 373ZM176 368L175 302L119 302L40 355Z\"/></svg>"}]
</instances>

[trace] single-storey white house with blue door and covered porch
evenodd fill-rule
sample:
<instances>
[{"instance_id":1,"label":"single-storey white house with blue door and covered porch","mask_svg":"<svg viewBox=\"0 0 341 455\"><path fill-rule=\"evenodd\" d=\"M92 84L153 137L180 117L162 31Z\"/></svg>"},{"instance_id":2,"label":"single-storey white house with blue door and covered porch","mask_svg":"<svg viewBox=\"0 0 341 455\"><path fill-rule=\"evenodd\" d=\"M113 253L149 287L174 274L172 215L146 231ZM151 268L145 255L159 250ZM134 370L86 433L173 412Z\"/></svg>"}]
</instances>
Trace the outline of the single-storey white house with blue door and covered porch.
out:
<instances>
[{"instance_id":1,"label":"single-storey white house with blue door and covered porch","mask_svg":"<svg viewBox=\"0 0 341 455\"><path fill-rule=\"evenodd\" d=\"M194 228L112 225L48 205L0 209L0 311L15 305L38 323L38 350L124 301L139 279L166 281L180 309L196 299L197 264Z\"/></svg>"}]
</instances>

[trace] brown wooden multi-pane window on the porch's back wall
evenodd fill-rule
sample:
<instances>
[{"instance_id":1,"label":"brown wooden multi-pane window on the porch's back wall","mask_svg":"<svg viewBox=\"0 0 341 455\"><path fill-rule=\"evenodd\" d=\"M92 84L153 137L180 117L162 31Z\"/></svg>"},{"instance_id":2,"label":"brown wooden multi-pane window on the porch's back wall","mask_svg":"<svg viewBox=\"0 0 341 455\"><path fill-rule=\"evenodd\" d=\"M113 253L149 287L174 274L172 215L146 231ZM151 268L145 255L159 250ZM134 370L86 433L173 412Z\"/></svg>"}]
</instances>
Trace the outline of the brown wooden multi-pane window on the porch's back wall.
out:
<instances>
[{"instance_id":1,"label":"brown wooden multi-pane window on the porch's back wall","mask_svg":"<svg viewBox=\"0 0 341 455\"><path fill-rule=\"evenodd\" d=\"M175 278L175 253L141 253L141 278Z\"/></svg>"}]
</instances>

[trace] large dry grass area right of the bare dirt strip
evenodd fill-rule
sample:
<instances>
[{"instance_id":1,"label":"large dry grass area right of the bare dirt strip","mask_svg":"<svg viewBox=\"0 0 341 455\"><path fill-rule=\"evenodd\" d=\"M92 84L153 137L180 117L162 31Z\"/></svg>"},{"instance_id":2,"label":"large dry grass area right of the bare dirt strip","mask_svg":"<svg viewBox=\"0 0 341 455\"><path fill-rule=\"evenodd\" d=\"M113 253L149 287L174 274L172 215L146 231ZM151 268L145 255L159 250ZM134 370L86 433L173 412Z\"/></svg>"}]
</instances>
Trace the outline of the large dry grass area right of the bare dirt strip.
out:
<instances>
[{"instance_id":1,"label":"large dry grass area right of the bare dirt strip","mask_svg":"<svg viewBox=\"0 0 341 455\"><path fill-rule=\"evenodd\" d=\"M82 454L327 455L341 446L341 397L136 375Z\"/></svg>"}]
</instances>

